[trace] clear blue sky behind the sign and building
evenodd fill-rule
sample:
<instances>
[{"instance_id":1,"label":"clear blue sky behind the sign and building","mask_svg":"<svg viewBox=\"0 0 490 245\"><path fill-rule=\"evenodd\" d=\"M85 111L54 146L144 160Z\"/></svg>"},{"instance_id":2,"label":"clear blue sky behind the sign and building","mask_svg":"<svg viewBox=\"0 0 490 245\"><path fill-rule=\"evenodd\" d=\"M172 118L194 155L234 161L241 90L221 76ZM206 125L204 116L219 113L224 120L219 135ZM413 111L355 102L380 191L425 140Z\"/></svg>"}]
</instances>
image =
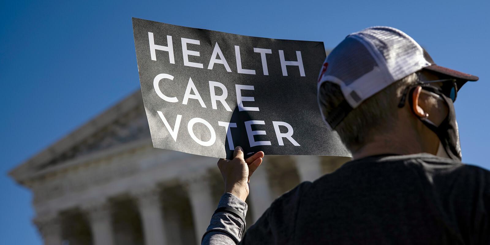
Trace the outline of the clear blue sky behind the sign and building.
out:
<instances>
[{"instance_id":1,"label":"clear blue sky behind the sign and building","mask_svg":"<svg viewBox=\"0 0 490 245\"><path fill-rule=\"evenodd\" d=\"M1 1L0 238L37 245L29 192L7 172L139 88L131 17L323 41L389 25L478 75L455 104L464 162L490 169L490 1Z\"/></svg>"}]
</instances>

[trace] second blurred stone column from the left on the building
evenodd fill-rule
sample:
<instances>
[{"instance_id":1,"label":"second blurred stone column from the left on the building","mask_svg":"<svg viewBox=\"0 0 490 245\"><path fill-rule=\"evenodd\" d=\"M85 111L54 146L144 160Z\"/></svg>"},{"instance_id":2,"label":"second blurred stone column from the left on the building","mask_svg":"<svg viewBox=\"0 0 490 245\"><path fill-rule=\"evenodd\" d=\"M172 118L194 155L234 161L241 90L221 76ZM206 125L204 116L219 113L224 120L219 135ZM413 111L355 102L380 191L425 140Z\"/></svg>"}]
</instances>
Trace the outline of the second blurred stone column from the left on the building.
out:
<instances>
[{"instance_id":1,"label":"second blurred stone column from the left on the building","mask_svg":"<svg viewBox=\"0 0 490 245\"><path fill-rule=\"evenodd\" d=\"M92 203L84 208L89 217L94 245L114 245L110 205L107 202Z\"/></svg>"}]
</instances>

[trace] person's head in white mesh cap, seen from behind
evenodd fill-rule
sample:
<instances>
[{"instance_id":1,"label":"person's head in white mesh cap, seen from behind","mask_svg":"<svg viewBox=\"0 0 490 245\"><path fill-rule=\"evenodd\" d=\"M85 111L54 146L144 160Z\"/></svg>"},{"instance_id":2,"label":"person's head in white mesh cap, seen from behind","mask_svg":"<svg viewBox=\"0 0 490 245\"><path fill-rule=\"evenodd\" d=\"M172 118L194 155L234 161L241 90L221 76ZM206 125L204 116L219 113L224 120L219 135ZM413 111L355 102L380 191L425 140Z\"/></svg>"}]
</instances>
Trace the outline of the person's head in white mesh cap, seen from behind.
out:
<instances>
[{"instance_id":1,"label":"person's head in white mesh cap, seen from behind","mask_svg":"<svg viewBox=\"0 0 490 245\"><path fill-rule=\"evenodd\" d=\"M449 113L444 114L441 121L451 118L446 120L450 125L444 124L444 128L449 128L452 134L454 131L457 133L455 119L454 123L449 122L454 117L451 110L454 114L452 101L455 98L450 102L445 99L452 97L453 93L455 97L466 81L477 79L473 75L437 66L428 53L404 32L375 26L348 35L330 52L319 75L318 102L324 121L339 133L351 151L368 144L375 136L395 134L400 130L415 130L417 134L425 133L429 128L436 139L441 139L443 137L437 128L441 122L431 122L427 112L441 110L437 99L443 101L447 107L444 111ZM431 83L434 81L441 82ZM430 96L419 101L420 94L424 93ZM405 101L410 101L409 106L400 110ZM414 121L407 122L407 119ZM418 130L422 123L428 128ZM456 145L444 139L441 143ZM455 147L459 147L459 138ZM461 159L458 149L452 151Z\"/></svg>"}]
</instances>

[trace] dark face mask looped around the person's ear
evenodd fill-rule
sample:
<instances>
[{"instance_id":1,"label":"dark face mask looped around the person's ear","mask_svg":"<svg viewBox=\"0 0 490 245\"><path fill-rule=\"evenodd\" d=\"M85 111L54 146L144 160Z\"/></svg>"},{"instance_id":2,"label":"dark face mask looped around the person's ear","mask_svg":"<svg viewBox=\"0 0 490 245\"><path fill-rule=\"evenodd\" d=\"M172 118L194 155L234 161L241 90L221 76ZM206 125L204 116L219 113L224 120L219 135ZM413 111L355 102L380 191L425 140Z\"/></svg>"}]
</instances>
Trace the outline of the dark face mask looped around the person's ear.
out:
<instances>
[{"instance_id":1,"label":"dark face mask looped around the person's ear","mask_svg":"<svg viewBox=\"0 0 490 245\"><path fill-rule=\"evenodd\" d=\"M422 89L427 89L427 87L422 86ZM412 94L414 90L415 88L412 88L409 94ZM419 118L419 119L430 130L436 133L439 140L441 141L442 148L447 153L447 156L453 160L461 161L462 154L461 154L458 123L456 122L456 112L454 110L454 104L451 98L446 97L440 91L431 89L430 92L433 92L439 95L442 99L444 99L448 109L447 116L439 126L436 126L434 123L427 120L426 118ZM410 104L412 104L412 97L409 96L409 99L410 99ZM403 107L403 104L404 103L400 102L398 107ZM410 108L412 109L412 111L414 110L412 106L410 106ZM440 155L439 152L438 155Z\"/></svg>"}]
</instances>

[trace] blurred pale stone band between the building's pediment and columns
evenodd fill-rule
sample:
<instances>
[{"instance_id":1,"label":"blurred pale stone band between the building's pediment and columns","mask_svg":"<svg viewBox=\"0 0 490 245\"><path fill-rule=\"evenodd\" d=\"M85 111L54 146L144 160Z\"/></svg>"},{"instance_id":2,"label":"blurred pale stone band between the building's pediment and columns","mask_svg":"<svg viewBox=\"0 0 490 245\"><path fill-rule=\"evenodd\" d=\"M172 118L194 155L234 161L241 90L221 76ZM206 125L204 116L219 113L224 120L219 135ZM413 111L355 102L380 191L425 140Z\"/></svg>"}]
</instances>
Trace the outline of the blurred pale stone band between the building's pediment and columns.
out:
<instances>
[{"instance_id":1,"label":"blurred pale stone band between the building's pediment and columns","mask_svg":"<svg viewBox=\"0 0 490 245\"><path fill-rule=\"evenodd\" d=\"M123 194L137 196L139 192L151 189L150 187L152 186L160 187L162 184L167 185L175 180L180 182L181 179L177 176L187 179L184 176L187 175L190 169L200 169L202 172L206 172L207 169L216 167L216 160L213 158L190 155L178 151L152 149L162 153L150 153L155 155L156 158L148 160L151 162L157 160L160 164L152 165L147 169L140 168L145 164L144 159L140 162L133 162L132 160L119 162L116 160L107 163L109 168L104 168L103 171L99 169L102 166L89 166L89 169L81 171L80 173L83 174L77 176L77 178L60 176L56 180L44 181L47 186L36 184L40 188L39 190L34 190L36 212L59 212L79 206L82 203L90 203L94 198L107 199ZM142 159L142 154L145 155L147 153L145 151L139 152L137 158ZM122 173L113 171L116 166L118 171L122 171ZM90 173L91 169L97 171L93 172L95 175L84 176L85 173ZM94 192L94 190L97 191ZM36 198L38 193L39 198Z\"/></svg>"}]
</instances>

